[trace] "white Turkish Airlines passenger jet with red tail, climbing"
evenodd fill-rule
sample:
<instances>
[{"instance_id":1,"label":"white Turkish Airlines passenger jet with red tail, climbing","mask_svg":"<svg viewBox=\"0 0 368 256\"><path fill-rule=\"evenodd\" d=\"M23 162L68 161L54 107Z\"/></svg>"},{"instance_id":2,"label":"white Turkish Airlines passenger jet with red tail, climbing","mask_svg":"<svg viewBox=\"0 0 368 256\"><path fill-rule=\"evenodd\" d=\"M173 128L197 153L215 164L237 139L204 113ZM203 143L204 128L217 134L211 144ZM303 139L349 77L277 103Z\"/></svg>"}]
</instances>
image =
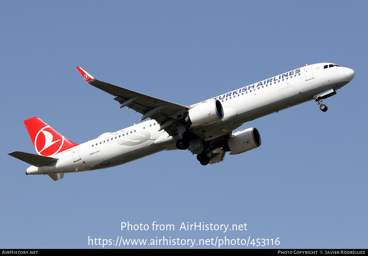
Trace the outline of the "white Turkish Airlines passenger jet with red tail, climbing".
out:
<instances>
[{"instance_id":1,"label":"white Turkish Airlines passenger jet with red tail, climbing","mask_svg":"<svg viewBox=\"0 0 368 256\"><path fill-rule=\"evenodd\" d=\"M32 166L26 174L47 174L54 181L64 173L92 171L128 163L163 150L189 150L202 165L224 160L226 152L240 154L261 146L254 127L233 132L246 122L297 104L322 100L350 82L354 70L333 63L318 63L288 71L184 106L99 81L77 67L85 81L114 96L119 109L142 114L140 121L91 141L69 141L38 117L24 121L37 154L14 151L10 156Z\"/></svg>"}]
</instances>

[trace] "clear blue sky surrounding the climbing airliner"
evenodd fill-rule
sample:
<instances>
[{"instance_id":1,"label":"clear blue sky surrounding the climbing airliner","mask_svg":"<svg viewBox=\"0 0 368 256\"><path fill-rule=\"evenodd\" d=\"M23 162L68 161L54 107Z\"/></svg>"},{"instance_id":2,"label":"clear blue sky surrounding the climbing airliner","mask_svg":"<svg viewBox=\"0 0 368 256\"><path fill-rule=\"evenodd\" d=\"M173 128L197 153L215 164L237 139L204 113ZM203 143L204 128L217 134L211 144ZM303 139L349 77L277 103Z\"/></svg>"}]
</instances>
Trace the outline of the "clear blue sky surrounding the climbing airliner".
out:
<instances>
[{"instance_id":1,"label":"clear blue sky surrounding the climbing airliner","mask_svg":"<svg viewBox=\"0 0 368 256\"><path fill-rule=\"evenodd\" d=\"M364 1L1 1L0 247L226 236L279 238L279 245L263 248L366 248L367 7ZM23 124L34 116L75 143L139 122L140 114L118 109L76 66L191 105L320 62L355 71L323 101L328 111L311 101L244 124L259 130L261 147L227 154L219 164L201 166L189 151L175 150L54 182L25 175L29 165L7 155L35 153ZM175 230L121 231L128 221ZM246 223L247 230L179 230L183 222ZM120 246L128 247L150 248Z\"/></svg>"}]
</instances>

